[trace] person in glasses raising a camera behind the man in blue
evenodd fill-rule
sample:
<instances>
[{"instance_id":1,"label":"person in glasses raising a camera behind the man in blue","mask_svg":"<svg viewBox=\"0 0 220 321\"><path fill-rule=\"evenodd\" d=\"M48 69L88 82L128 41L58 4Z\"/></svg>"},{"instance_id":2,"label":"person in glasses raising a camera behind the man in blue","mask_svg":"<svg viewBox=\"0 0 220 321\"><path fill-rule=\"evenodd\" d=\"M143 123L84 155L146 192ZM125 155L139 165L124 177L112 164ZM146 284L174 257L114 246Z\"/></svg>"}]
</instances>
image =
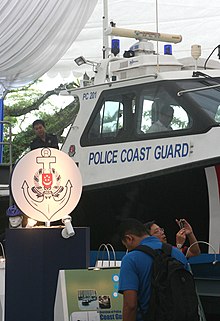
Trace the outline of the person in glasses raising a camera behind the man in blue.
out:
<instances>
[{"instance_id":1,"label":"person in glasses raising a camera behind the man in blue","mask_svg":"<svg viewBox=\"0 0 220 321\"><path fill-rule=\"evenodd\" d=\"M187 253L187 257L199 255L201 252L198 244L194 244L189 249L189 251L187 251L188 247L184 245L186 240L189 241L189 246L197 242L197 239L195 237L195 234L193 233L193 229L191 225L185 219L180 219L180 220L176 219L176 223L180 227L180 230L176 233L176 247L183 254L186 255ZM155 221L147 222L144 225L146 227L147 232L150 235L158 237L161 242L165 242L165 243L167 242L164 229L161 228L159 225L157 225Z\"/></svg>"}]
</instances>

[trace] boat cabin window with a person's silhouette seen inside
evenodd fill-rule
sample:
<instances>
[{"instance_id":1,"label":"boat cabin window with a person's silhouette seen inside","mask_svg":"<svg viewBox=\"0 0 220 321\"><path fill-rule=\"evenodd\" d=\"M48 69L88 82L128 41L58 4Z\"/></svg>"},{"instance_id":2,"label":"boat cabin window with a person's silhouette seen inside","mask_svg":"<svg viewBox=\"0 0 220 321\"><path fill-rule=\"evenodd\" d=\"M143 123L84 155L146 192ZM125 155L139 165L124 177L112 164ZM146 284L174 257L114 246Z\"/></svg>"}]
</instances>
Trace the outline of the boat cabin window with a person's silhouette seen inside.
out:
<instances>
[{"instance_id":1,"label":"boat cabin window with a person's silhouette seen inside","mask_svg":"<svg viewBox=\"0 0 220 321\"><path fill-rule=\"evenodd\" d=\"M154 96L144 92L140 104L138 134L183 130L192 126L186 110L165 91L160 90Z\"/></svg>"}]
</instances>

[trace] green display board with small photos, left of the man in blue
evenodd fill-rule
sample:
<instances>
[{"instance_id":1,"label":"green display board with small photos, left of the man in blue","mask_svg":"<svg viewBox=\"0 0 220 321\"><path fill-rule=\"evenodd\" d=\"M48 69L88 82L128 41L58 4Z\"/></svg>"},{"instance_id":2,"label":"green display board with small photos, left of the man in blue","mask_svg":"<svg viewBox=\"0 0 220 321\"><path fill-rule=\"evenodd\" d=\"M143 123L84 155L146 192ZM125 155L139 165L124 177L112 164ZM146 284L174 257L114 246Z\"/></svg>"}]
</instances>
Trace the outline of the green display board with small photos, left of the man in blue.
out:
<instances>
[{"instance_id":1,"label":"green display board with small photos, left of the man in blue","mask_svg":"<svg viewBox=\"0 0 220 321\"><path fill-rule=\"evenodd\" d=\"M54 321L122 320L119 268L60 270Z\"/></svg>"}]
</instances>

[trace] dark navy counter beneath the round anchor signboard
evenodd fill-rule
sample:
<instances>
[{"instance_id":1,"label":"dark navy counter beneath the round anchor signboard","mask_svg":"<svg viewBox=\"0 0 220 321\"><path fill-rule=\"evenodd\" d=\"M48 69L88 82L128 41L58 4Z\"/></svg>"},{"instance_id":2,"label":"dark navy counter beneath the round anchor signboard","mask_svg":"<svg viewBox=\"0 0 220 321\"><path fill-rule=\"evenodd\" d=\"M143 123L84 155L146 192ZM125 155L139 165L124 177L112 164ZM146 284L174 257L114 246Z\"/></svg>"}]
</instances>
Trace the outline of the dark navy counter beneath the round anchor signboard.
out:
<instances>
[{"instance_id":1,"label":"dark navy counter beneath the round anchor signboard","mask_svg":"<svg viewBox=\"0 0 220 321\"><path fill-rule=\"evenodd\" d=\"M68 239L61 231L6 230L5 321L53 321L59 271L89 266L89 228Z\"/></svg>"}]
</instances>

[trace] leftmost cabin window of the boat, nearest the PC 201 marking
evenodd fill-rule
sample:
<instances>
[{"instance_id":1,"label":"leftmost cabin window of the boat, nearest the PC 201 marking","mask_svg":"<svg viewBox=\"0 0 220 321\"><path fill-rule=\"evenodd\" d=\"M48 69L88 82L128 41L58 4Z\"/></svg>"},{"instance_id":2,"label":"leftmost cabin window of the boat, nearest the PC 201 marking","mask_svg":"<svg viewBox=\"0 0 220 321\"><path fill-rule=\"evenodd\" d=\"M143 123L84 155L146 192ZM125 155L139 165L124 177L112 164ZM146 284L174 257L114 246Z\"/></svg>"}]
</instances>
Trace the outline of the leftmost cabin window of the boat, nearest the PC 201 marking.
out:
<instances>
[{"instance_id":1,"label":"leftmost cabin window of the boat, nearest the PC 201 marking","mask_svg":"<svg viewBox=\"0 0 220 321\"><path fill-rule=\"evenodd\" d=\"M130 89L103 93L82 138L86 144L126 141L135 128L136 95ZM83 140L84 139L84 140Z\"/></svg>"}]
</instances>

